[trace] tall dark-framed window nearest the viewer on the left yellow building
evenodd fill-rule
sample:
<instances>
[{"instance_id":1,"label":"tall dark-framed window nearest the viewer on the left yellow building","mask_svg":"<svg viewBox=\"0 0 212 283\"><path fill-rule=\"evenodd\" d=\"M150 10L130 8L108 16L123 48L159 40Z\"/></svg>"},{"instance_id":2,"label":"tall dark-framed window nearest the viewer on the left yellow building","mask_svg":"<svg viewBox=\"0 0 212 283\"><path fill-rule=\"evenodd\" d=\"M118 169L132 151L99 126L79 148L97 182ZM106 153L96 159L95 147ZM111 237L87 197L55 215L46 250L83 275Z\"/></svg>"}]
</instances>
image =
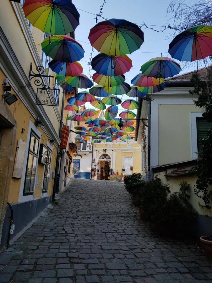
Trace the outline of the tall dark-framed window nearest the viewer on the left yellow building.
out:
<instances>
[{"instance_id":1,"label":"tall dark-framed window nearest the viewer on the left yellow building","mask_svg":"<svg viewBox=\"0 0 212 283\"><path fill-rule=\"evenodd\" d=\"M32 195L34 192L38 147L39 147L39 139L35 135L35 133L31 131L23 195Z\"/></svg>"}]
</instances>

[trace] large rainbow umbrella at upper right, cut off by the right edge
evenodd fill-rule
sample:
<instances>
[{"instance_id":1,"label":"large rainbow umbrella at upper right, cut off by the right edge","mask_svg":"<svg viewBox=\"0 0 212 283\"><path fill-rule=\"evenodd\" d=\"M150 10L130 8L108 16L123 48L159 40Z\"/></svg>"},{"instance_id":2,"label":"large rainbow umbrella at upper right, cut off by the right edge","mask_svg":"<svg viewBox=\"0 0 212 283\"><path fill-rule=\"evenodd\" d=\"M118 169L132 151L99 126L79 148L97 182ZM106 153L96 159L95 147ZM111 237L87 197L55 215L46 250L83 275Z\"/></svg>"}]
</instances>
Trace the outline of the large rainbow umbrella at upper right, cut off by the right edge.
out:
<instances>
[{"instance_id":1,"label":"large rainbow umbrella at upper right, cut off by the right edge","mask_svg":"<svg viewBox=\"0 0 212 283\"><path fill-rule=\"evenodd\" d=\"M182 31L169 44L168 52L179 61L195 61L212 55L212 26L197 25Z\"/></svg>"}]
</instances>

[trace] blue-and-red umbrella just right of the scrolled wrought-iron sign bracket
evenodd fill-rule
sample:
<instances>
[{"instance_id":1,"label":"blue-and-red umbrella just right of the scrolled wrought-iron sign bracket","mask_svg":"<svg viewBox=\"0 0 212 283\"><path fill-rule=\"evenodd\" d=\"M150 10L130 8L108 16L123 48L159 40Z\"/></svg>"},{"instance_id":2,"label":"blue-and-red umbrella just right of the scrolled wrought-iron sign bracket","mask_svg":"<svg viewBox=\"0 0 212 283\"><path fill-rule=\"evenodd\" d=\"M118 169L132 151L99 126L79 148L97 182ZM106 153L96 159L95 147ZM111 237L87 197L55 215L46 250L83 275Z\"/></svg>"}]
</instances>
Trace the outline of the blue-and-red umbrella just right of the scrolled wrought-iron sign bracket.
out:
<instances>
[{"instance_id":1,"label":"blue-and-red umbrella just right of the scrolled wrought-iron sign bracket","mask_svg":"<svg viewBox=\"0 0 212 283\"><path fill-rule=\"evenodd\" d=\"M58 75L62 76L78 76L82 73L83 67L79 62L73 63L62 63L59 61L52 60L49 63L49 67L52 69L53 72L57 73Z\"/></svg>"}]
</instances>

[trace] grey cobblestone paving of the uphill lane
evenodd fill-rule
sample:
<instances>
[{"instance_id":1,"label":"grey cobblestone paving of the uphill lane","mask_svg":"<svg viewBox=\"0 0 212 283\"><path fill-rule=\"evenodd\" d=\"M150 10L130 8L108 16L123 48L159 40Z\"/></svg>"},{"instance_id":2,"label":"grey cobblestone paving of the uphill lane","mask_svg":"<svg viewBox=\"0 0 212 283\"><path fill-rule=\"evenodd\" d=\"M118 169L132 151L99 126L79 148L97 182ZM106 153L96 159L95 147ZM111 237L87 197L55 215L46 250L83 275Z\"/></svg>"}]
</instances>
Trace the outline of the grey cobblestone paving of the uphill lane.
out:
<instances>
[{"instance_id":1,"label":"grey cobblestone paving of the uphill lane","mask_svg":"<svg viewBox=\"0 0 212 283\"><path fill-rule=\"evenodd\" d=\"M0 282L212 282L198 242L153 233L122 183L82 179L0 254L0 270Z\"/></svg>"}]
</instances>

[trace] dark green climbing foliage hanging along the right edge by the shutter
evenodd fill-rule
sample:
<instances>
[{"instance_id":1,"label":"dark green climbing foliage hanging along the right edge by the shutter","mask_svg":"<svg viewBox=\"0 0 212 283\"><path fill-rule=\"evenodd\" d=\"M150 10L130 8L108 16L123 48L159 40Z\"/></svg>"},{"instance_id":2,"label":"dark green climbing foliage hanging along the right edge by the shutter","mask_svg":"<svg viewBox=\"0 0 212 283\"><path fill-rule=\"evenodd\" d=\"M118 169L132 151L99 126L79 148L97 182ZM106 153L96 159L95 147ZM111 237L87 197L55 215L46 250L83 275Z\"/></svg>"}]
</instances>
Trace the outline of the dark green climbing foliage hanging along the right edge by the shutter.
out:
<instances>
[{"instance_id":1,"label":"dark green climbing foliage hanging along the right edge by the shutter","mask_svg":"<svg viewBox=\"0 0 212 283\"><path fill-rule=\"evenodd\" d=\"M212 123L212 68L208 68L206 81L199 79L198 74L193 74L191 81L194 84L194 90L191 94L198 94L198 100L195 104L198 107L204 107L203 118ZM210 209L212 200L212 129L208 130L207 137L202 141L202 151L199 153L196 166L193 171L197 174L195 194L201 198L205 205L201 207ZM200 205L200 203L199 203Z\"/></svg>"}]
</instances>

